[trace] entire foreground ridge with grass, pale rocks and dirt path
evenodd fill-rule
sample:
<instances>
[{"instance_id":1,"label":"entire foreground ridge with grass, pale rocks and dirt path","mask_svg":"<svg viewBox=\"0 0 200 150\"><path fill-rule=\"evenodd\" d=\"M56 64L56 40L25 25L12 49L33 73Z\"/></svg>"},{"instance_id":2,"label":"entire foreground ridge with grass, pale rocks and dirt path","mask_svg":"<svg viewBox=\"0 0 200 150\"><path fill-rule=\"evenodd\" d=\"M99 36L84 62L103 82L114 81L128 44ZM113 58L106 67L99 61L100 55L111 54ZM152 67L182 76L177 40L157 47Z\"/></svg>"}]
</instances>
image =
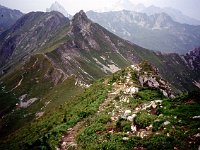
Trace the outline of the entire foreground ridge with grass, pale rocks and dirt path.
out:
<instances>
[{"instance_id":1,"label":"entire foreground ridge with grass, pale rocks and dirt path","mask_svg":"<svg viewBox=\"0 0 200 150\"><path fill-rule=\"evenodd\" d=\"M200 144L199 93L175 97L147 62L98 80L75 97L56 93L64 87L44 96L65 98L64 103L4 137L1 148L197 149Z\"/></svg>"}]
</instances>

